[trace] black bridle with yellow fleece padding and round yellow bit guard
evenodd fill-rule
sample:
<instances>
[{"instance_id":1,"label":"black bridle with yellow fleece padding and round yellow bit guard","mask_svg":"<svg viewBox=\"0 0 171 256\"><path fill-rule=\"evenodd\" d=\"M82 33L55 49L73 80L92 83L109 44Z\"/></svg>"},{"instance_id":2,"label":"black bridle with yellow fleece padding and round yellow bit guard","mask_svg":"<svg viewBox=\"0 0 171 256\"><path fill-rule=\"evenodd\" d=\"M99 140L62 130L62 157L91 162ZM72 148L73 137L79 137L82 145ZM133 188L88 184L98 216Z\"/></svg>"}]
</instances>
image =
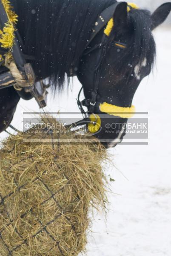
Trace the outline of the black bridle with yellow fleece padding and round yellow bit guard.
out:
<instances>
[{"instance_id":1,"label":"black bridle with yellow fleece padding and round yellow bit guard","mask_svg":"<svg viewBox=\"0 0 171 256\"><path fill-rule=\"evenodd\" d=\"M82 102L80 102L80 93L83 90L83 87L81 88L81 90L78 94L78 99L77 99L77 104L80 108L80 111L82 112L82 114L84 116L83 120L87 120L87 118L88 118L87 114L90 114L89 119L91 122L88 124L88 129L92 133L98 132L101 127L100 116L98 116L96 113L98 108L102 113L107 113L107 114L113 115L113 116L119 116L120 118L125 118L125 119L131 118L132 116L134 116L134 112L135 112L135 107L133 105L128 108L111 105L111 104L108 104L107 102L103 102L102 98L98 94L100 71L101 71L103 59L105 57L106 41L108 41L108 36L110 35L112 28L114 27L113 15L114 15L115 9L117 8L117 6L119 4L120 3L115 3L112 6L109 6L98 17L97 22L95 23L95 26L94 26L94 29L92 32L92 36L91 36L90 40L88 41L87 47L84 52L84 55L86 55L86 54L89 54L90 52L94 51L95 49L99 49L99 51L100 51L99 52L100 59L96 65L96 69L94 70L94 90L91 92L91 99L84 99ZM133 3L128 3L127 11L130 12L131 9L138 9L138 7ZM103 34L101 43L96 44L93 47L88 47L89 44L91 43L91 41L94 39L94 37L98 34L98 32L100 32L100 30L103 29L105 24L107 24L107 26L104 30L104 34ZM123 49L126 48L125 44L122 44L122 43L116 42L116 41L114 41L114 46L123 48ZM84 111L83 106L88 108L88 112ZM124 128L124 130L125 130L125 128ZM121 135L122 135L122 133L120 133L120 135L118 137L119 141L116 142L116 145L117 145L117 143L121 142L121 140L122 140Z\"/></svg>"}]
</instances>

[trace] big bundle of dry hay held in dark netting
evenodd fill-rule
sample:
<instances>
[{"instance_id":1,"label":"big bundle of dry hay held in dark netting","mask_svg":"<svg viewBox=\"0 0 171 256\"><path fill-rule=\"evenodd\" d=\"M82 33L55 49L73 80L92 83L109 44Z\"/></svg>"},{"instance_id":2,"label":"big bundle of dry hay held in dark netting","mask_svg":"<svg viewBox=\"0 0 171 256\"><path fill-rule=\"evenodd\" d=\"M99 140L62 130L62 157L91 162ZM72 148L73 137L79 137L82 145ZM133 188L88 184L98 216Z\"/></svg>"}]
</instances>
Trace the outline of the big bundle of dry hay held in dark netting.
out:
<instances>
[{"instance_id":1,"label":"big bundle of dry hay held in dark netting","mask_svg":"<svg viewBox=\"0 0 171 256\"><path fill-rule=\"evenodd\" d=\"M59 133L53 136L59 138ZM0 256L77 256L85 250L90 209L104 207L105 149L95 140L41 143L41 138L51 137L18 133L3 142ZM23 143L28 138L39 143ZM83 140L69 131L60 138Z\"/></svg>"}]
</instances>

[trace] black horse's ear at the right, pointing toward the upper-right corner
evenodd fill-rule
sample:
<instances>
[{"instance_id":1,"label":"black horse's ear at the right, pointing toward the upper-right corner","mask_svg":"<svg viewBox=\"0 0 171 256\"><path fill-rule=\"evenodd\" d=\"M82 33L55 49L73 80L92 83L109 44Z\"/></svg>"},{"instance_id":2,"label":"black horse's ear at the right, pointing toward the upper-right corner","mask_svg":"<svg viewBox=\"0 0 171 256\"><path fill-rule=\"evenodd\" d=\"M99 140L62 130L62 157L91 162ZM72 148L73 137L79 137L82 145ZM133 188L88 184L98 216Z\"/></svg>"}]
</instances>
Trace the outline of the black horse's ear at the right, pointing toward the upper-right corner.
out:
<instances>
[{"instance_id":1,"label":"black horse's ear at the right, pointing toward the upper-right corner","mask_svg":"<svg viewBox=\"0 0 171 256\"><path fill-rule=\"evenodd\" d=\"M151 30L162 24L168 17L171 11L171 2L163 3L157 10L151 15L152 27Z\"/></svg>"}]
</instances>

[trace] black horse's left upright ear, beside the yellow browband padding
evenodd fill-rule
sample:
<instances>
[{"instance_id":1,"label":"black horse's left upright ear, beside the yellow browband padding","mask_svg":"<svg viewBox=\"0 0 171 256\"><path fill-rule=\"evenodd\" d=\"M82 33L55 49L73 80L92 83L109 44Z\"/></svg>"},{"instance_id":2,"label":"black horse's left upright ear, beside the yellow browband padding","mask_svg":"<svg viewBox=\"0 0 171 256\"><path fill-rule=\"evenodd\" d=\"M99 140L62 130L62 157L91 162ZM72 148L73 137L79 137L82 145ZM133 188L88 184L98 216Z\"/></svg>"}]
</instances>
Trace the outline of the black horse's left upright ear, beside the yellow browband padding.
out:
<instances>
[{"instance_id":1,"label":"black horse's left upright ear, beside the yellow browband padding","mask_svg":"<svg viewBox=\"0 0 171 256\"><path fill-rule=\"evenodd\" d=\"M128 4L126 2L120 2L114 12L114 26L124 28L127 26L127 17L128 17Z\"/></svg>"}]
</instances>

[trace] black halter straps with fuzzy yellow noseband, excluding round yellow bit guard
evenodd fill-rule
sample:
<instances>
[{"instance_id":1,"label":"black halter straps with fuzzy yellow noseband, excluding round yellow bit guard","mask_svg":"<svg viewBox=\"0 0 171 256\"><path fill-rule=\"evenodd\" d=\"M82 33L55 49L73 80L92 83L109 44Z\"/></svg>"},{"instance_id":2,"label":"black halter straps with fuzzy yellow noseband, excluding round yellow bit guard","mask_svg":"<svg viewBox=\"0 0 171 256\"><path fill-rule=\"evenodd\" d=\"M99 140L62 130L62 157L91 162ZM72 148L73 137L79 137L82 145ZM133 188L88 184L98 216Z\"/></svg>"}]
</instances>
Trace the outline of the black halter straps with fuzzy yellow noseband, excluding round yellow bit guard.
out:
<instances>
[{"instance_id":1,"label":"black halter straps with fuzzy yellow noseband, excluding round yellow bit guard","mask_svg":"<svg viewBox=\"0 0 171 256\"><path fill-rule=\"evenodd\" d=\"M114 115L114 116L120 116L121 118L130 118L134 115L135 112L135 107L131 106L129 108L125 108L125 107L120 107L120 106L116 106L116 105L111 105L108 104L107 102L103 102L102 104L100 102L97 101L97 97L99 97L98 95L98 87L99 87L99 80L100 80L100 68L101 65L103 63L103 58L105 56L105 44L107 41L108 36L110 35L110 32L112 30L112 28L114 27L114 19L113 19L113 15L114 15L114 11L117 8L117 6L120 3L114 3L113 5L109 6L107 9L105 9L101 15L98 17L97 22L95 23L95 27L93 29L93 33L91 36L91 39L88 42L88 45L90 44L90 42L93 40L93 38L95 37L95 35L97 35L97 33L104 27L105 23L107 23L107 26L104 30L104 34L103 34L103 38L100 44L96 44L94 47L88 48L85 50L85 55L94 51L94 49L100 49L100 60L97 64L96 69L94 70L94 90L91 93L91 99L85 99L83 102L80 102L78 97L78 105L80 107L80 110L83 111L83 107L82 105L89 107L88 112L89 113L93 113L94 108L98 105L99 109L101 112L104 113L108 113L110 115ZM138 9L138 6L134 3L128 3L128 8L127 11L130 12L131 9ZM116 47L120 47L120 48L126 48L125 44L121 44L120 42L116 42L114 41L114 45ZM82 89L81 89L82 90ZM80 93L79 93L80 95ZM100 98L100 97L99 97ZM85 112L84 112L85 114Z\"/></svg>"}]
</instances>

